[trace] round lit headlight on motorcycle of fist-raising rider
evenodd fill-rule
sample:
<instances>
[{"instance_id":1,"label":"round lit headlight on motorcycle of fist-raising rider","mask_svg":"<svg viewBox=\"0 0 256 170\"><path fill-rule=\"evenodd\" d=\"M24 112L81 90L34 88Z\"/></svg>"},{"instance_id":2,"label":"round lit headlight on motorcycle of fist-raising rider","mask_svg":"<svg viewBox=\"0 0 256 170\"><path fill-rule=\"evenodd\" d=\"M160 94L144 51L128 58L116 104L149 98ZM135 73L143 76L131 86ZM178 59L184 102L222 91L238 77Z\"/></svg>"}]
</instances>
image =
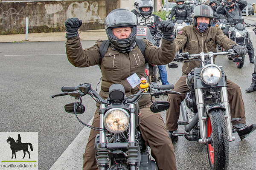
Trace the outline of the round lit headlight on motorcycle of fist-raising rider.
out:
<instances>
[{"instance_id":1,"label":"round lit headlight on motorcycle of fist-raising rider","mask_svg":"<svg viewBox=\"0 0 256 170\"><path fill-rule=\"evenodd\" d=\"M122 133L130 125L130 116L122 108L113 108L104 115L104 126L112 133Z\"/></svg>"}]
</instances>

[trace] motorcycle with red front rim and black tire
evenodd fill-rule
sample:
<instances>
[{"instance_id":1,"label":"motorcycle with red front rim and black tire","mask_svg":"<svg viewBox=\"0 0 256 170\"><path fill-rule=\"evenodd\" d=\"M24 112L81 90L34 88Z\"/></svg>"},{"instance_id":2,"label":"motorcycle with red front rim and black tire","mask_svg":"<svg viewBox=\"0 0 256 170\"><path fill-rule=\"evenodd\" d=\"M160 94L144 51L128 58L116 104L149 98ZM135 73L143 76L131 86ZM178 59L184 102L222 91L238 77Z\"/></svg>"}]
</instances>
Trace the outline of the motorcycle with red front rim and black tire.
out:
<instances>
[{"instance_id":1,"label":"motorcycle with red front rim and black tire","mask_svg":"<svg viewBox=\"0 0 256 170\"><path fill-rule=\"evenodd\" d=\"M240 129L233 128L232 123L240 118L231 119L227 75L221 66L214 64L215 55L234 57L237 54L232 51L192 55L181 53L175 58L174 61L178 62L200 60L201 66L194 68L187 76L189 92L181 102L183 120L178 122L179 126L184 126L184 130L176 130L172 135L206 144L211 169L226 170L229 162L229 142L236 139L232 133ZM241 59L235 58L234 62Z\"/></svg>"}]
</instances>

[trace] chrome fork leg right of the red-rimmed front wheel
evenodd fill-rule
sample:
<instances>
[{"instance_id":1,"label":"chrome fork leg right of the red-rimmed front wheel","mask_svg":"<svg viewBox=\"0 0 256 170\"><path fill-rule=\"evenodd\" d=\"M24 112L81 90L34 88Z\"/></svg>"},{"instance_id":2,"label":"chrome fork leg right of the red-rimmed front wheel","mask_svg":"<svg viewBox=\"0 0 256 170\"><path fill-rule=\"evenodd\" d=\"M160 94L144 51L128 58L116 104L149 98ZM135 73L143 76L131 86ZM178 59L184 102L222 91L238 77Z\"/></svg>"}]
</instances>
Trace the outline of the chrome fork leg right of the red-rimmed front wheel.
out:
<instances>
[{"instance_id":1,"label":"chrome fork leg right of the red-rimmed front wheel","mask_svg":"<svg viewBox=\"0 0 256 170\"><path fill-rule=\"evenodd\" d=\"M225 119L227 122L227 133L228 133L228 139L229 141L233 141L232 137L232 123L231 123L231 116L230 116L230 106L228 102L228 96L227 96L227 87L220 88L221 92L221 103L225 106ZM234 138L235 139L235 138Z\"/></svg>"}]
</instances>

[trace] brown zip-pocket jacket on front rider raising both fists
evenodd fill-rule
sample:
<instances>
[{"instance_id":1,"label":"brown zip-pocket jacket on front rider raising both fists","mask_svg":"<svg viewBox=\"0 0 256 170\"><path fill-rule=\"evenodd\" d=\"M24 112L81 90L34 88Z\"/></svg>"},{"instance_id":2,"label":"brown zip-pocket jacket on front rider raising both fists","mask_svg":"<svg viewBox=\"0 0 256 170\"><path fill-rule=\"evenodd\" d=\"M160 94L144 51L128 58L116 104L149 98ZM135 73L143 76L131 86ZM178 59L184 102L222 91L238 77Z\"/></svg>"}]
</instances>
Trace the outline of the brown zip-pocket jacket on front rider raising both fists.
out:
<instances>
[{"instance_id":1,"label":"brown zip-pocket jacket on front rider raising both fists","mask_svg":"<svg viewBox=\"0 0 256 170\"><path fill-rule=\"evenodd\" d=\"M102 85L99 95L103 99L107 99L108 89L114 83L119 83L125 87L126 96L136 94L139 89L137 87L131 88L131 85L126 80L128 77L134 73L140 78L145 77L145 63L165 65L172 62L174 59L176 53L174 41L169 42L162 40L162 46L160 48L154 46L148 40L143 41L146 45L145 57L137 45L133 51L129 53L113 50L111 46L109 46L100 65ZM101 43L102 41L98 40L92 47L83 49L79 37L67 39L66 52L69 62L76 67L99 65L99 47ZM149 103L149 95L144 95L139 101L140 107L148 105Z\"/></svg>"}]
</instances>

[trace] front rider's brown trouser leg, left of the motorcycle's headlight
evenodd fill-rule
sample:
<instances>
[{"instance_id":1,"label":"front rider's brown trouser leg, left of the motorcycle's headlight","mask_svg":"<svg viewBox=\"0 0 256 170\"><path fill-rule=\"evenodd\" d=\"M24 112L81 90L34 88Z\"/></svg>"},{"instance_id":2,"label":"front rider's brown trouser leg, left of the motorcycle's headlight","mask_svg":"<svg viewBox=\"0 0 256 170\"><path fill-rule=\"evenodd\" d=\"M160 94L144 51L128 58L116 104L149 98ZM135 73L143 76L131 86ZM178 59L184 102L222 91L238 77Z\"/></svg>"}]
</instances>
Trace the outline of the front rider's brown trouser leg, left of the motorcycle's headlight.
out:
<instances>
[{"instance_id":1,"label":"front rider's brown trouser leg, left of the motorcycle's headlight","mask_svg":"<svg viewBox=\"0 0 256 170\"><path fill-rule=\"evenodd\" d=\"M99 109L95 112L92 126L99 127ZM84 153L83 170L98 170L94 148L94 142L97 134L99 134L98 130L90 130L90 136Z\"/></svg>"}]
</instances>

